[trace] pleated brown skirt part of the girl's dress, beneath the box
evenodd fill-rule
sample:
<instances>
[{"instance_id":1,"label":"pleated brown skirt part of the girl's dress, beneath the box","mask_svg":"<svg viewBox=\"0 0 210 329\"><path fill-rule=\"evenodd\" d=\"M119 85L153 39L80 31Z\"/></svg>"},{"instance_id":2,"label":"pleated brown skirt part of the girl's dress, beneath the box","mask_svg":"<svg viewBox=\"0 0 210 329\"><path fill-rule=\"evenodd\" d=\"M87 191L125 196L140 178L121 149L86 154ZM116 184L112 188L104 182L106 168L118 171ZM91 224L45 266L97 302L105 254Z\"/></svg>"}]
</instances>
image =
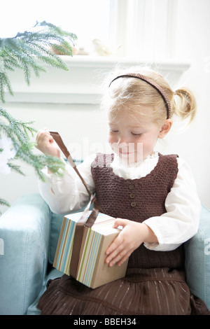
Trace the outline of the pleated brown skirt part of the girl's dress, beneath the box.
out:
<instances>
[{"instance_id":1,"label":"pleated brown skirt part of the girl's dress, beneath the box","mask_svg":"<svg viewBox=\"0 0 210 329\"><path fill-rule=\"evenodd\" d=\"M41 314L63 315L210 315L190 293L178 270L132 269L127 276L96 289L63 275L48 283L38 302Z\"/></svg>"}]
</instances>

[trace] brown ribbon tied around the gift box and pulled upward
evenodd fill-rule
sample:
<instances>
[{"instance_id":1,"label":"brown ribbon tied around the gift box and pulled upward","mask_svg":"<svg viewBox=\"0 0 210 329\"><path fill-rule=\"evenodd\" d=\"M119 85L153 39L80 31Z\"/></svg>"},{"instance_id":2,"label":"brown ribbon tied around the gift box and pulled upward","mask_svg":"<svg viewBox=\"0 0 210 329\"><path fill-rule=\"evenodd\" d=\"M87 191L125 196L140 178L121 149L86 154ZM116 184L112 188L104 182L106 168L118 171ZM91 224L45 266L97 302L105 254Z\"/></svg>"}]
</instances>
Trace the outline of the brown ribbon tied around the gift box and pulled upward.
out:
<instances>
[{"instance_id":1,"label":"brown ribbon tied around the gift box and pulled upward","mask_svg":"<svg viewBox=\"0 0 210 329\"><path fill-rule=\"evenodd\" d=\"M80 177L81 181L83 182L83 185L85 186L88 195L90 195L90 202L87 204L87 207L83 211L83 215L79 218L78 222L76 223L76 230L73 238L73 248L71 253L71 262L69 267L69 275L76 278L76 273L78 269L78 262L79 262L79 256L80 256L80 248L83 241L83 231L84 226L87 226L87 228L92 228L92 225L94 224L94 221L96 220L98 214L99 214L99 204L90 193L90 190L87 188L87 184L85 183L83 177L80 175L80 172L78 172L78 169L76 168L75 162L73 162L73 159L71 158L71 155L69 151L67 150L66 146L64 145L64 142L62 141L62 138L59 136L58 132L50 132L50 135L52 138L56 141L57 145L61 149L62 153L64 153L66 159L69 161L71 167L76 171L76 174ZM90 206L93 204L93 209L91 211L90 216L87 218L88 213L90 211ZM70 274L71 269L71 274Z\"/></svg>"}]
</instances>

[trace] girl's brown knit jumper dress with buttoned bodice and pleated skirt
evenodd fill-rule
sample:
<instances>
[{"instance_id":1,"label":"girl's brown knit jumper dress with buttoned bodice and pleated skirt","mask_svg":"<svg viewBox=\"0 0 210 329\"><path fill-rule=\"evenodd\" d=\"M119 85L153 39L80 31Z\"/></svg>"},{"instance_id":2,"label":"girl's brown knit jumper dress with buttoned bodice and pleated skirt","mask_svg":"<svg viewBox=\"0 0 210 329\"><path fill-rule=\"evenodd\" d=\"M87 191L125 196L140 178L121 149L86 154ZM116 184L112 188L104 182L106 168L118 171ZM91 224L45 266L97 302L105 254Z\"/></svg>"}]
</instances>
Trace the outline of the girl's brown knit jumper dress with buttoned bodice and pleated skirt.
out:
<instances>
[{"instance_id":1,"label":"girl's brown knit jumper dress with buttoned bodice and pleated skirt","mask_svg":"<svg viewBox=\"0 0 210 329\"><path fill-rule=\"evenodd\" d=\"M178 172L176 158L159 154L150 174L123 179L110 166L113 155L99 154L92 163L92 177L100 211L139 223L164 214ZM130 255L125 278L91 289L64 274L48 283L38 308L42 314L209 314L202 300L190 294L183 264L183 246L151 251L141 244Z\"/></svg>"}]
</instances>

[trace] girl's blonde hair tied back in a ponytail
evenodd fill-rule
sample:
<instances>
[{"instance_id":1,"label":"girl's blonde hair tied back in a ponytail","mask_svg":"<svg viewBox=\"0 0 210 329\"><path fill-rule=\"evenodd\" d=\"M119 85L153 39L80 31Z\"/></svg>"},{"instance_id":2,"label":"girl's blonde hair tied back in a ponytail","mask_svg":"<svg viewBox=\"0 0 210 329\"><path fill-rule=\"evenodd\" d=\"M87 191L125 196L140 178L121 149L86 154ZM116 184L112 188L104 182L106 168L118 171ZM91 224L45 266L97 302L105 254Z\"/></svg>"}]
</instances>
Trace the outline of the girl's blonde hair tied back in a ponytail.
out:
<instances>
[{"instance_id":1,"label":"girl's blonde hair tied back in a ponytail","mask_svg":"<svg viewBox=\"0 0 210 329\"><path fill-rule=\"evenodd\" d=\"M134 67L127 71L118 71L112 77L109 77L109 83L117 76L129 73L140 73L147 78L151 78L151 80L162 87L171 104L171 117L173 114L176 114L181 119L188 118L190 121L193 120L196 111L196 101L193 92L188 90L188 88L182 87L174 92L160 73L147 67ZM153 109L153 121L158 125L162 125L165 122L167 118L165 101L161 94L144 80L132 77L118 78L111 83L108 89L108 94L105 95L103 104L109 113L116 113L121 109L126 109L133 116L138 114L145 116L146 111L140 113L139 109L150 107Z\"/></svg>"}]
</instances>

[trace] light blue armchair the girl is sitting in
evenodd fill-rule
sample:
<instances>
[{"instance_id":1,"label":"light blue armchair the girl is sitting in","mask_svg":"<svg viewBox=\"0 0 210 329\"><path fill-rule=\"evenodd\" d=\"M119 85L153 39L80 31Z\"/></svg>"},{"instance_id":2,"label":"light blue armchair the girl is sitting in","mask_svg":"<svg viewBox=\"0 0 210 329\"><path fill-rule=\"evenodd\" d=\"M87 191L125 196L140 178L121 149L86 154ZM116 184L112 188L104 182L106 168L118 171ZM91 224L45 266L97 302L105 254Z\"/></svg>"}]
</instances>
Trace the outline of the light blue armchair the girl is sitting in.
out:
<instances>
[{"instance_id":1,"label":"light blue armchair the girl is sitting in","mask_svg":"<svg viewBox=\"0 0 210 329\"><path fill-rule=\"evenodd\" d=\"M40 195L25 195L0 218L0 314L40 314L36 308L52 267L63 216ZM202 207L197 235L185 244L186 276L210 310L210 211Z\"/></svg>"}]
</instances>

